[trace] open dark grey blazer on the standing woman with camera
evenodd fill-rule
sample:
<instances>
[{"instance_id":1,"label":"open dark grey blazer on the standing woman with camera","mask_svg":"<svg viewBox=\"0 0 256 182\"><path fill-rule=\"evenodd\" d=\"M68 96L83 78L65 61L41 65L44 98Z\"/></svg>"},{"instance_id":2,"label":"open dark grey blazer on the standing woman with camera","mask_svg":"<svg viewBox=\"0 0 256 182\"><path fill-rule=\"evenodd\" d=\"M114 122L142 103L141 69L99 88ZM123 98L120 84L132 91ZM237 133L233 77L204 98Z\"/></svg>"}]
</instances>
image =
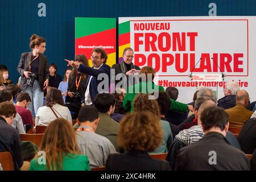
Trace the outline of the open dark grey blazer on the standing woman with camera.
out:
<instances>
[{"instance_id":1,"label":"open dark grey blazer on the standing woman with camera","mask_svg":"<svg viewBox=\"0 0 256 182\"><path fill-rule=\"evenodd\" d=\"M19 88L23 92L27 88L27 78L23 75L23 73L24 73L24 71L29 71L29 63L31 60L31 56L32 56L32 52L22 53L20 60L19 60L19 65L17 67L17 71L22 76L20 78ZM48 69L48 63L47 63L46 56L44 56L43 54L40 54L40 53L39 53L38 77L39 77L39 82L40 82L40 86L41 86L41 91L43 92L44 81L46 81L46 79L49 80L49 69Z\"/></svg>"}]
</instances>

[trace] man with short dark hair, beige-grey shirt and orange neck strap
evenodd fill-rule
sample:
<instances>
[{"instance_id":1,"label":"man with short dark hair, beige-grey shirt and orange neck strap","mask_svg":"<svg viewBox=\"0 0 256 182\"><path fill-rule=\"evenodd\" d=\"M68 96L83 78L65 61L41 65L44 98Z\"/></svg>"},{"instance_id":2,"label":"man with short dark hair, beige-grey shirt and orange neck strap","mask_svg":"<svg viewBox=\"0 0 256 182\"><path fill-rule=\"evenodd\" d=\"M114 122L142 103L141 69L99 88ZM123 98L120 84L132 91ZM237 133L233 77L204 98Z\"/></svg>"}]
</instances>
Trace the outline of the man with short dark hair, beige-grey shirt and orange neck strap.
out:
<instances>
[{"instance_id":1,"label":"man with short dark hair, beige-grey shirt and orange neck strap","mask_svg":"<svg viewBox=\"0 0 256 182\"><path fill-rule=\"evenodd\" d=\"M88 156L90 168L106 166L109 154L115 154L115 147L108 138L94 133L100 120L98 110L94 106L81 107L76 130L77 143L82 154Z\"/></svg>"}]
</instances>

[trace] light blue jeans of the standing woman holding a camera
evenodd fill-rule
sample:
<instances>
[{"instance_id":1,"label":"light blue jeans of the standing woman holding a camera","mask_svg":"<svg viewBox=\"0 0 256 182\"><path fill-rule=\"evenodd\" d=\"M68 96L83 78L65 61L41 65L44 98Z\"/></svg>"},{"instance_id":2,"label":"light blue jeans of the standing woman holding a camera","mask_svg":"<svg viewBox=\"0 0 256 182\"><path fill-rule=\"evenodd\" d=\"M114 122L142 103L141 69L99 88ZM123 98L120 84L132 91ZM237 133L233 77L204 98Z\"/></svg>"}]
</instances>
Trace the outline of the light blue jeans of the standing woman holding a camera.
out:
<instances>
[{"instance_id":1,"label":"light blue jeans of the standing woman holding a camera","mask_svg":"<svg viewBox=\"0 0 256 182\"><path fill-rule=\"evenodd\" d=\"M38 112L38 108L43 106L43 100L44 100L44 92L41 91L40 82L35 80L34 85L27 86L25 92L27 92L30 95L31 103L27 107L33 114L33 109L35 111L35 115Z\"/></svg>"}]
</instances>

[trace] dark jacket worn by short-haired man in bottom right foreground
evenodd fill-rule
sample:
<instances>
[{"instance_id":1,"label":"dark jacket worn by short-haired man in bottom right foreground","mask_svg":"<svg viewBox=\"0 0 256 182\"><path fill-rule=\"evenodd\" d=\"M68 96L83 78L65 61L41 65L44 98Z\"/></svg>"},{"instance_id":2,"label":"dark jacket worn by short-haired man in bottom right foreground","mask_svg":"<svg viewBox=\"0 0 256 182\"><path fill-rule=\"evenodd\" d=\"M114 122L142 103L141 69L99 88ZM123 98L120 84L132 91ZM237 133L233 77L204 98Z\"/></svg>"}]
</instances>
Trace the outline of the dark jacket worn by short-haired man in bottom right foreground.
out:
<instances>
[{"instance_id":1,"label":"dark jacket worn by short-haired man in bottom right foreground","mask_svg":"<svg viewBox=\"0 0 256 182\"><path fill-rule=\"evenodd\" d=\"M216 152L216 164L209 164ZM241 171L250 170L250 162L245 153L230 146L226 138L217 132L206 134L199 142L180 149L175 170L201 171Z\"/></svg>"}]
</instances>

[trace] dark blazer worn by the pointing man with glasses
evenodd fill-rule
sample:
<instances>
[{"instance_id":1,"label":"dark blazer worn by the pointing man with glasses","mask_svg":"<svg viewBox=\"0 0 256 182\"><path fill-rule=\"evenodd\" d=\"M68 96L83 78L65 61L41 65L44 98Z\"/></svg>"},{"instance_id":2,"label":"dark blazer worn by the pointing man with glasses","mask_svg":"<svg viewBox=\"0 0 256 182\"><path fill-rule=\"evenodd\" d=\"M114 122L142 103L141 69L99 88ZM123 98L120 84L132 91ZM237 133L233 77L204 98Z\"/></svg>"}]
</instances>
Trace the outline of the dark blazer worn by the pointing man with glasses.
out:
<instances>
[{"instance_id":1,"label":"dark blazer worn by the pointing man with glasses","mask_svg":"<svg viewBox=\"0 0 256 182\"><path fill-rule=\"evenodd\" d=\"M85 88L87 88L87 85L89 84L89 80L90 77L93 76L92 80L90 81L90 98L92 99L93 102L93 98L98 94L98 84L100 84L100 82L102 81L106 81L105 79L102 80L97 80L98 75L100 75L100 73L106 73L106 75L108 76L108 88L102 88L105 91L109 91L109 85L110 85L110 67L109 65L103 63L102 66L100 67L100 69L93 69L90 67L86 67L83 64L79 65L79 69L77 69L79 72L81 73L85 73L88 75L87 80L86 80L86 86Z\"/></svg>"}]
</instances>

